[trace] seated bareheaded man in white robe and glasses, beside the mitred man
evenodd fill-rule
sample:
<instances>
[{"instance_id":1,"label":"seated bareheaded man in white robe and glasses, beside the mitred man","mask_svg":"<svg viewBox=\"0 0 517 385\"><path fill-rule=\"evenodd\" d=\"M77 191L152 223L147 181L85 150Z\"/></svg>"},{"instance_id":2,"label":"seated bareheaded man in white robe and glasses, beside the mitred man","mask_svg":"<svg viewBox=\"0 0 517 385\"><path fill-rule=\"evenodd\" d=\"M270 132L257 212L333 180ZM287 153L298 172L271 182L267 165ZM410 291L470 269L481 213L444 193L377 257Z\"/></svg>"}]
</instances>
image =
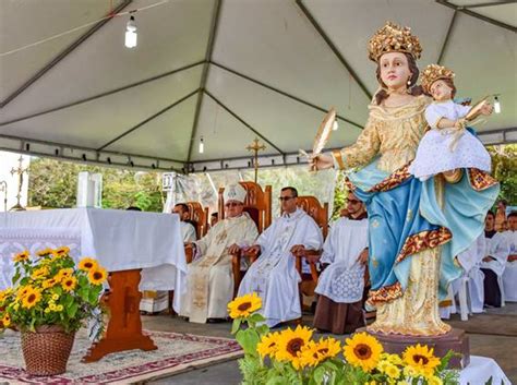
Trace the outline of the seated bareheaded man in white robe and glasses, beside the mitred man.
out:
<instances>
[{"instance_id":1,"label":"seated bareheaded man in white robe and glasses, beside the mitred man","mask_svg":"<svg viewBox=\"0 0 517 385\"><path fill-rule=\"evenodd\" d=\"M298 192L284 188L280 193L281 216L274 220L247 253L261 256L251 265L239 287L239 296L256 292L262 298L262 314L273 327L301 317L296 269L296 255L306 250L320 250L323 236L303 209L298 208Z\"/></svg>"}]
</instances>

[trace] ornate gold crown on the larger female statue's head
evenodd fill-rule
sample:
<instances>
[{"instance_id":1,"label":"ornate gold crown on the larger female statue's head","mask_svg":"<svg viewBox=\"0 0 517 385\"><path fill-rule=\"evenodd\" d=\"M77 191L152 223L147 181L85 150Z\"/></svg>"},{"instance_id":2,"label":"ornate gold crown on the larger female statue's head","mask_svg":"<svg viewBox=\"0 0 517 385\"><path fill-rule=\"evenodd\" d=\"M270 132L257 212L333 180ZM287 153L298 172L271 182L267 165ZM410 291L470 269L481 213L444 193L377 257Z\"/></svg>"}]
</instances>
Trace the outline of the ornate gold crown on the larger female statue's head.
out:
<instances>
[{"instance_id":1,"label":"ornate gold crown on the larger female statue's head","mask_svg":"<svg viewBox=\"0 0 517 385\"><path fill-rule=\"evenodd\" d=\"M378 61L386 52L407 52L416 60L420 59L422 47L417 36L411 35L410 27L401 27L395 23L386 22L368 44L369 58Z\"/></svg>"}]
</instances>

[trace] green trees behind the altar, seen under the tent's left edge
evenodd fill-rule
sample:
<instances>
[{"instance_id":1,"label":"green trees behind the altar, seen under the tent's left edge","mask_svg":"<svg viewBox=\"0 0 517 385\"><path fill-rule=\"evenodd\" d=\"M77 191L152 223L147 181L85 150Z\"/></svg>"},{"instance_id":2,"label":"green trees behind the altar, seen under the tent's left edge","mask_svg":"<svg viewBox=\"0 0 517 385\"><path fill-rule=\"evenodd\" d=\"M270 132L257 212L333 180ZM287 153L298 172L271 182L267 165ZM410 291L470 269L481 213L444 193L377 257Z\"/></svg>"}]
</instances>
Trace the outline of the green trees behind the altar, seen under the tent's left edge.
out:
<instances>
[{"instance_id":1,"label":"green trees behind the altar, seen under the tent's left edge","mask_svg":"<svg viewBox=\"0 0 517 385\"><path fill-rule=\"evenodd\" d=\"M144 212L161 212L161 175L117 168L33 158L28 175L28 205L47 208L74 207L77 175L103 175L103 207L124 209L137 206Z\"/></svg>"}]
</instances>

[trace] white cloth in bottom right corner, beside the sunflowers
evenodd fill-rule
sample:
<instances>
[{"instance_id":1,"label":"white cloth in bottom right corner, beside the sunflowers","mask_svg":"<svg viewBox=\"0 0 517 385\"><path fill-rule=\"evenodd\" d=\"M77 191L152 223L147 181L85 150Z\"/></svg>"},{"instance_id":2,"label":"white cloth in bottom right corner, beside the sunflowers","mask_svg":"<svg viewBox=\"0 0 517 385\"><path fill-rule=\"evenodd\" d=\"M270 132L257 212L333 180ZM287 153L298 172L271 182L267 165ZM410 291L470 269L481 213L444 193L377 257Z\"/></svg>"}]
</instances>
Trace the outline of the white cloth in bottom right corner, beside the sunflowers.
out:
<instances>
[{"instance_id":1,"label":"white cloth in bottom right corner, beside the sunflowers","mask_svg":"<svg viewBox=\"0 0 517 385\"><path fill-rule=\"evenodd\" d=\"M492 377L493 385L512 385L503 370L493 359L488 357L470 356L470 364L459 375L460 385L485 385Z\"/></svg>"}]
</instances>

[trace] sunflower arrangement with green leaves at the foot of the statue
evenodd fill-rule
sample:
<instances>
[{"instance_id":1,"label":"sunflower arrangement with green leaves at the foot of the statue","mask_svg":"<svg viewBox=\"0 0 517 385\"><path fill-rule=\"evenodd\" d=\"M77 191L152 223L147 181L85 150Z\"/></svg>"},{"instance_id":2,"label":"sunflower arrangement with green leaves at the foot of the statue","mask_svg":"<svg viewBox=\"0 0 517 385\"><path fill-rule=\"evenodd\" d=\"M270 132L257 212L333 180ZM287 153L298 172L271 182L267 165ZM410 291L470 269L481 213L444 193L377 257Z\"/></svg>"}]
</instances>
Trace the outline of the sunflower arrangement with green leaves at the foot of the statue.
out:
<instances>
[{"instance_id":1,"label":"sunflower arrangement with green leaves at the foot of the statue","mask_svg":"<svg viewBox=\"0 0 517 385\"><path fill-rule=\"evenodd\" d=\"M256 293L236 298L228 304L232 334L244 350L239 360L244 385L452 385L457 371L446 370L453 352L438 359L426 346L411 346L401 354L384 352L378 340L358 333L345 346L335 338L313 339L313 330L270 332Z\"/></svg>"}]
</instances>

